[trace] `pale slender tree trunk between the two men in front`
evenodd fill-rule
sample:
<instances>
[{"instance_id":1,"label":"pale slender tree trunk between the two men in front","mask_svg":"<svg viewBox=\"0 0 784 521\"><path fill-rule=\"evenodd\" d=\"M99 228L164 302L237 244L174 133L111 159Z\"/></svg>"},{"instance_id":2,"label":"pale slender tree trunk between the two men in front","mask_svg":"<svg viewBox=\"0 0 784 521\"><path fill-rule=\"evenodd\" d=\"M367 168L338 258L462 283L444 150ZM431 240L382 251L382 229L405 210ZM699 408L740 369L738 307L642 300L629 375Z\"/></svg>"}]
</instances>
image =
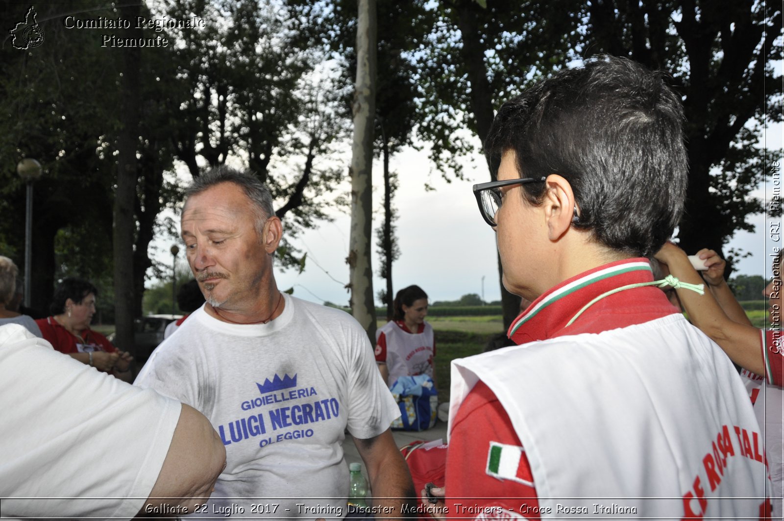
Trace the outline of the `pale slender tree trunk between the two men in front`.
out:
<instances>
[{"instance_id":1,"label":"pale slender tree trunk between the two men in front","mask_svg":"<svg viewBox=\"0 0 784 521\"><path fill-rule=\"evenodd\" d=\"M351 232L348 256L351 310L371 343L376 341L373 304L372 166L376 115L376 0L359 0L354 142L351 148Z\"/></svg>"}]
</instances>

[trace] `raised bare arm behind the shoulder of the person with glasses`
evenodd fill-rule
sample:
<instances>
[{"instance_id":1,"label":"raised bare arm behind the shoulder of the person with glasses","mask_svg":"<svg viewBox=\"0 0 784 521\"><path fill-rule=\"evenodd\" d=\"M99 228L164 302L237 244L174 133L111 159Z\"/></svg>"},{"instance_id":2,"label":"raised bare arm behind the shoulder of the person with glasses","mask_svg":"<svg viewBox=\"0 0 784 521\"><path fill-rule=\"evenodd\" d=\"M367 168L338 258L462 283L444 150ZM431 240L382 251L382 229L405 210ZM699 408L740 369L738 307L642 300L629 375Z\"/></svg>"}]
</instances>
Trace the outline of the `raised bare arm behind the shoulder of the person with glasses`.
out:
<instances>
[{"instance_id":1,"label":"raised bare arm behind the shoulder of the person with glasses","mask_svg":"<svg viewBox=\"0 0 784 521\"><path fill-rule=\"evenodd\" d=\"M662 246L655 257L659 262L667 264L670 273L681 282L702 283L697 271L691 267L686 253L671 242ZM704 295L699 295L694 291L679 288L677 293L689 319L702 333L719 344L733 362L765 376L764 359L760 351L760 330L729 319L713 297L713 292L706 291Z\"/></svg>"}]
</instances>

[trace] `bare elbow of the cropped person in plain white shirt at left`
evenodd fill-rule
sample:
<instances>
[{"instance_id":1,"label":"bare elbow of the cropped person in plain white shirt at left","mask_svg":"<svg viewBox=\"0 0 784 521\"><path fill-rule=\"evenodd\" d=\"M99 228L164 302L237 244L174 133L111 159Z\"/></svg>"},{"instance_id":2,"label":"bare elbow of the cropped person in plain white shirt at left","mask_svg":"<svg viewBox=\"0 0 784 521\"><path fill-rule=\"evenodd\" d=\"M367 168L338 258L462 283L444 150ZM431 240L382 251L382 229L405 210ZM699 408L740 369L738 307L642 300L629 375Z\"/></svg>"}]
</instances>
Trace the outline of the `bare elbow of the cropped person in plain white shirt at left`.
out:
<instances>
[{"instance_id":1,"label":"bare elbow of the cropped person in plain white shirt at left","mask_svg":"<svg viewBox=\"0 0 784 521\"><path fill-rule=\"evenodd\" d=\"M215 490L215 482L225 466L226 448L212 424L198 410L183 403L169 452L139 515L161 505L182 505L188 508L187 512L193 512L194 505L206 501Z\"/></svg>"}]
</instances>

